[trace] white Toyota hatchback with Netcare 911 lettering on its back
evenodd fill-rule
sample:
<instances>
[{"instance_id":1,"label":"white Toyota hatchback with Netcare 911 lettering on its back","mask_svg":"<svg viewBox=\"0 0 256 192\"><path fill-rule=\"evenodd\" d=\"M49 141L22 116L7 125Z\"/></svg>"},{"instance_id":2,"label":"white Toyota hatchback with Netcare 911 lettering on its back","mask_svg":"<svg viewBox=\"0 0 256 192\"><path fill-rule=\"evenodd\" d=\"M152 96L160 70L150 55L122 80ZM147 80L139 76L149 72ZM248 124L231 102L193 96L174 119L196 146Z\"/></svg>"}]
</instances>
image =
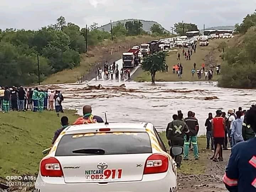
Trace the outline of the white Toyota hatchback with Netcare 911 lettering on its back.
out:
<instances>
[{"instance_id":1,"label":"white Toyota hatchback with Netcare 911 lettering on its back","mask_svg":"<svg viewBox=\"0 0 256 192\"><path fill-rule=\"evenodd\" d=\"M182 147L173 147L182 154ZM175 151L175 152L174 152ZM36 192L176 192L176 163L151 123L92 123L60 133Z\"/></svg>"}]
</instances>

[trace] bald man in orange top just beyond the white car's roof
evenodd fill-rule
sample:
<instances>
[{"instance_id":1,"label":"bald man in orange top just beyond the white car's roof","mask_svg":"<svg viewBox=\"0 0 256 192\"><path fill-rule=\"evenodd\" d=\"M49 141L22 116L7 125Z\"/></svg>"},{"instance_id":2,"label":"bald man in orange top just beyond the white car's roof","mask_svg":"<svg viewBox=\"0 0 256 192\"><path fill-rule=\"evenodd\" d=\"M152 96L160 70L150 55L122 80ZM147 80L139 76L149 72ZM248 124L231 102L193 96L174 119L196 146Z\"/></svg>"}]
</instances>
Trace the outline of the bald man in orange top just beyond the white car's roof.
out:
<instances>
[{"instance_id":1,"label":"bald man in orange top just beyond the white car's roof","mask_svg":"<svg viewBox=\"0 0 256 192\"><path fill-rule=\"evenodd\" d=\"M104 123L100 116L92 114L92 108L90 105L85 105L83 107L83 117L76 119L74 124L87 124L87 123Z\"/></svg>"}]
</instances>

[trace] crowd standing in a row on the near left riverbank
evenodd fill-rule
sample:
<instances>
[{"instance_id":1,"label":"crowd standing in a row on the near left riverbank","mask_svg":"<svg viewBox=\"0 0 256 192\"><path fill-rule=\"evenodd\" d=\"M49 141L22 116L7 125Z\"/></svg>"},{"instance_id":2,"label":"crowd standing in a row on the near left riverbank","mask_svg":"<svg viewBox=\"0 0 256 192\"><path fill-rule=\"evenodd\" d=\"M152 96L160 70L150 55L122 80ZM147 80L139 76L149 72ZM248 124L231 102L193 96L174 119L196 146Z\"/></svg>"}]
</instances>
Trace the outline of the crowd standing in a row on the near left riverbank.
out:
<instances>
[{"instance_id":1,"label":"crowd standing in a row on the near left riverbank","mask_svg":"<svg viewBox=\"0 0 256 192\"><path fill-rule=\"evenodd\" d=\"M63 112L63 95L60 91L39 90L38 87L23 88L20 87L1 87L0 88L0 109L2 113L10 111L28 111L43 112L43 110L54 110L57 116Z\"/></svg>"}]
</instances>

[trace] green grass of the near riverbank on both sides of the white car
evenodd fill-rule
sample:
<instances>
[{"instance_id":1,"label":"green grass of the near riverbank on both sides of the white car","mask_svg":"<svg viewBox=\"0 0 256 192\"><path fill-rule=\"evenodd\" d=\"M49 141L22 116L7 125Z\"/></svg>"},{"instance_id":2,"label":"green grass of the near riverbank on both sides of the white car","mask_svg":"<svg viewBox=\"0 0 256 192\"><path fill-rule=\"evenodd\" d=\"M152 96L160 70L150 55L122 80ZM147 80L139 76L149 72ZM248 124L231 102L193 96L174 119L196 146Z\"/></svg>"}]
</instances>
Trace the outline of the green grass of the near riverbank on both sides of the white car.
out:
<instances>
[{"instance_id":1,"label":"green grass of the near riverbank on both sides of the white car","mask_svg":"<svg viewBox=\"0 0 256 192\"><path fill-rule=\"evenodd\" d=\"M74 112L65 110L70 123L77 118ZM43 157L42 150L51 145L53 134L58 128L60 128L60 119L54 112L0 113L0 178L37 174L39 162ZM161 138L168 146L165 133L161 133ZM199 138L198 143L199 149L205 148L206 138ZM180 171L202 173L206 166L207 153L201 150L200 155L198 161L183 161ZM192 151L190 158L194 159Z\"/></svg>"}]
</instances>

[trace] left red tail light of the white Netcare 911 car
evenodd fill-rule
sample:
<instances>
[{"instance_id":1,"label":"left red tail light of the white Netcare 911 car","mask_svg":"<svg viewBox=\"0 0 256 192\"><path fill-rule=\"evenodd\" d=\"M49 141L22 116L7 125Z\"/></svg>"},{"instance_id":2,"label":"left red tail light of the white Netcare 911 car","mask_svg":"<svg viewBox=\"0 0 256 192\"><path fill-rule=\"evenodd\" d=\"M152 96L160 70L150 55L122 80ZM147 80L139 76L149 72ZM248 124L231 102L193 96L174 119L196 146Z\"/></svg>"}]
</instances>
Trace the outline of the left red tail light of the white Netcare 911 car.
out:
<instances>
[{"instance_id":1,"label":"left red tail light of the white Netcare 911 car","mask_svg":"<svg viewBox=\"0 0 256 192\"><path fill-rule=\"evenodd\" d=\"M40 163L40 172L42 176L48 176L48 177L64 176L60 162L53 157L42 159Z\"/></svg>"}]
</instances>

